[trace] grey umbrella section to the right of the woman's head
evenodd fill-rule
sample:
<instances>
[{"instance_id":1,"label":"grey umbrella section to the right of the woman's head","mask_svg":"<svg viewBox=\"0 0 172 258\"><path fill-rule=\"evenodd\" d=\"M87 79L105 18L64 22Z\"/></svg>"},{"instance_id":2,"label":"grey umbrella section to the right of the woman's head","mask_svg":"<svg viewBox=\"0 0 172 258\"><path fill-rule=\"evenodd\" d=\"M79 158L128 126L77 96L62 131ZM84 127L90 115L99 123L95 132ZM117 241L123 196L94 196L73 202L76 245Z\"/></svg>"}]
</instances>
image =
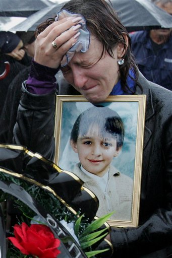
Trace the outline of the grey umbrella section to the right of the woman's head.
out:
<instances>
[{"instance_id":1,"label":"grey umbrella section to the right of the woman's head","mask_svg":"<svg viewBox=\"0 0 172 258\"><path fill-rule=\"evenodd\" d=\"M128 31L172 28L172 17L149 0L112 0Z\"/></svg>"}]
</instances>

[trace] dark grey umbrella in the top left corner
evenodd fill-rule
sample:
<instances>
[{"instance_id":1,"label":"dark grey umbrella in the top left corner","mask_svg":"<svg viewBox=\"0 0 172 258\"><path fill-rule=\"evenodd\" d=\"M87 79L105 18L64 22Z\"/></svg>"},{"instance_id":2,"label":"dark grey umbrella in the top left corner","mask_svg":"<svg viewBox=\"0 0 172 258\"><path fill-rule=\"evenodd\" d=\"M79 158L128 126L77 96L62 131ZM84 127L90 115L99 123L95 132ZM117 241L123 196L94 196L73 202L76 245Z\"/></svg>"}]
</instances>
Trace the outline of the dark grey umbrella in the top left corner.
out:
<instances>
[{"instance_id":1,"label":"dark grey umbrella in the top left corner","mask_svg":"<svg viewBox=\"0 0 172 258\"><path fill-rule=\"evenodd\" d=\"M0 16L28 17L50 5L48 0L1 0Z\"/></svg>"}]
</instances>

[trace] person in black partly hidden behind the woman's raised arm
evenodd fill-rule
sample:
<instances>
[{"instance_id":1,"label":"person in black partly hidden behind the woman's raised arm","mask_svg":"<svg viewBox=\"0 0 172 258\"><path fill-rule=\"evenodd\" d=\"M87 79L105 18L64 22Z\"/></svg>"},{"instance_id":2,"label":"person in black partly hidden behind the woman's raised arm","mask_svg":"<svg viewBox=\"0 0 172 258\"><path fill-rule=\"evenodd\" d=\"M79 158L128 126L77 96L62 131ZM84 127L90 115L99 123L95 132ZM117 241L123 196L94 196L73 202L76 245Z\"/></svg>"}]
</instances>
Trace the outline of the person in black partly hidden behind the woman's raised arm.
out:
<instances>
[{"instance_id":1,"label":"person in black partly hidden behind the woman's raised arm","mask_svg":"<svg viewBox=\"0 0 172 258\"><path fill-rule=\"evenodd\" d=\"M27 53L28 62L30 63L31 58L34 57L35 34L34 32L16 32L16 35L20 38L20 42L22 42L21 51ZM18 74L8 87L6 100L0 116L0 143L12 144L13 142L13 128L16 123L17 109L22 93L21 84L27 80L29 72L30 66L25 66L22 71L18 71Z\"/></svg>"}]
</instances>

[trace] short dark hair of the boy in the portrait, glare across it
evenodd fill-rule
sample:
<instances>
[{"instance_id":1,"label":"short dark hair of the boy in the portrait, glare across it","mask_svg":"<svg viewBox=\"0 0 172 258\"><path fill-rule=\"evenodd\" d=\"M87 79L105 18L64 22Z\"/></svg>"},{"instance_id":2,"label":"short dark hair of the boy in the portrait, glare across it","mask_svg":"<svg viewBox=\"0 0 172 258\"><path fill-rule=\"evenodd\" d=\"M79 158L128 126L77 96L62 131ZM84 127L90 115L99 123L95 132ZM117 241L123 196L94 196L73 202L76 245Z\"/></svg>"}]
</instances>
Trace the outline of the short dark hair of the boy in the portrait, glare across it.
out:
<instances>
[{"instance_id":1,"label":"short dark hair of the boy in the portrait, glare across it","mask_svg":"<svg viewBox=\"0 0 172 258\"><path fill-rule=\"evenodd\" d=\"M77 143L79 136L86 136L90 126L98 125L100 135L110 134L117 139L117 148L123 146L124 123L116 111L108 107L90 107L81 113L72 128L70 140Z\"/></svg>"}]
</instances>

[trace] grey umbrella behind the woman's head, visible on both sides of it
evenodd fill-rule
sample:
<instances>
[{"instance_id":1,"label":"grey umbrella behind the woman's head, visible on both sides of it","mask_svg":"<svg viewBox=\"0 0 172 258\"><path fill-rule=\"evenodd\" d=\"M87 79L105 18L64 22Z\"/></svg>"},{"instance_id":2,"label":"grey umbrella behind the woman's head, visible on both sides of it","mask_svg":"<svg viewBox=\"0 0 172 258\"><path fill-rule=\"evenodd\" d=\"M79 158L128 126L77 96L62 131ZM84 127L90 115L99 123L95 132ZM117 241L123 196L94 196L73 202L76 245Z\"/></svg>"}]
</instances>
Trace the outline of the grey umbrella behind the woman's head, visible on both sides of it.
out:
<instances>
[{"instance_id":1,"label":"grey umbrella behind the woman's head, visible on both sides of it","mask_svg":"<svg viewBox=\"0 0 172 258\"><path fill-rule=\"evenodd\" d=\"M172 17L149 0L112 0L122 23L129 32L151 28L171 28ZM34 31L47 18L54 17L64 3L44 8L16 25L11 31Z\"/></svg>"}]
</instances>

